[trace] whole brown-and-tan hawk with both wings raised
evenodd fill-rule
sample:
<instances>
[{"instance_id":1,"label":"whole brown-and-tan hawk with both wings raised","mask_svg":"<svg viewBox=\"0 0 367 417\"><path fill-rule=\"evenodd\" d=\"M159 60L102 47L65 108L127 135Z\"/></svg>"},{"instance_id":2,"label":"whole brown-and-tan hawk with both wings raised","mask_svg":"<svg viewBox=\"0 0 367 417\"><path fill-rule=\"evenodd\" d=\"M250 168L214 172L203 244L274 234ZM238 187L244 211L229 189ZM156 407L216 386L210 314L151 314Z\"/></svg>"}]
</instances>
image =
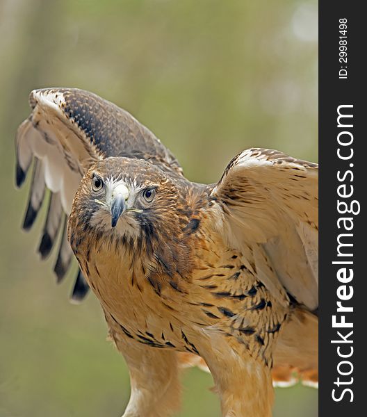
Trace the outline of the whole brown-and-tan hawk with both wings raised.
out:
<instances>
[{"instance_id":1,"label":"whole brown-and-tan hawk with both wings raised","mask_svg":"<svg viewBox=\"0 0 367 417\"><path fill-rule=\"evenodd\" d=\"M271 149L193 183L133 116L91 92L31 92L16 182L33 163L24 229L50 193L39 252L79 262L124 355L124 417L171 416L179 368L209 368L227 417L272 414L272 381L318 379L318 165Z\"/></svg>"}]
</instances>

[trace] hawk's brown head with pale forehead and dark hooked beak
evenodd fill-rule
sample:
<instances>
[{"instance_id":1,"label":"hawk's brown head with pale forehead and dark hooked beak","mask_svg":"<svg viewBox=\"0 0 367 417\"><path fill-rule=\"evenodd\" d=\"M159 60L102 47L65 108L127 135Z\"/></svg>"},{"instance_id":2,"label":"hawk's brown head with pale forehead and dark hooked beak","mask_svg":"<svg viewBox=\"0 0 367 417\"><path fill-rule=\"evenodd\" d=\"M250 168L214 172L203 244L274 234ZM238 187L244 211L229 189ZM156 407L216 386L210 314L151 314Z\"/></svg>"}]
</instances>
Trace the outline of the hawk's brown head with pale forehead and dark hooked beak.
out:
<instances>
[{"instance_id":1,"label":"hawk's brown head with pale forehead and dark hooked beak","mask_svg":"<svg viewBox=\"0 0 367 417\"><path fill-rule=\"evenodd\" d=\"M81 181L73 209L86 228L137 236L164 227L183 208L184 199L170 177L142 159L106 158Z\"/></svg>"}]
</instances>

